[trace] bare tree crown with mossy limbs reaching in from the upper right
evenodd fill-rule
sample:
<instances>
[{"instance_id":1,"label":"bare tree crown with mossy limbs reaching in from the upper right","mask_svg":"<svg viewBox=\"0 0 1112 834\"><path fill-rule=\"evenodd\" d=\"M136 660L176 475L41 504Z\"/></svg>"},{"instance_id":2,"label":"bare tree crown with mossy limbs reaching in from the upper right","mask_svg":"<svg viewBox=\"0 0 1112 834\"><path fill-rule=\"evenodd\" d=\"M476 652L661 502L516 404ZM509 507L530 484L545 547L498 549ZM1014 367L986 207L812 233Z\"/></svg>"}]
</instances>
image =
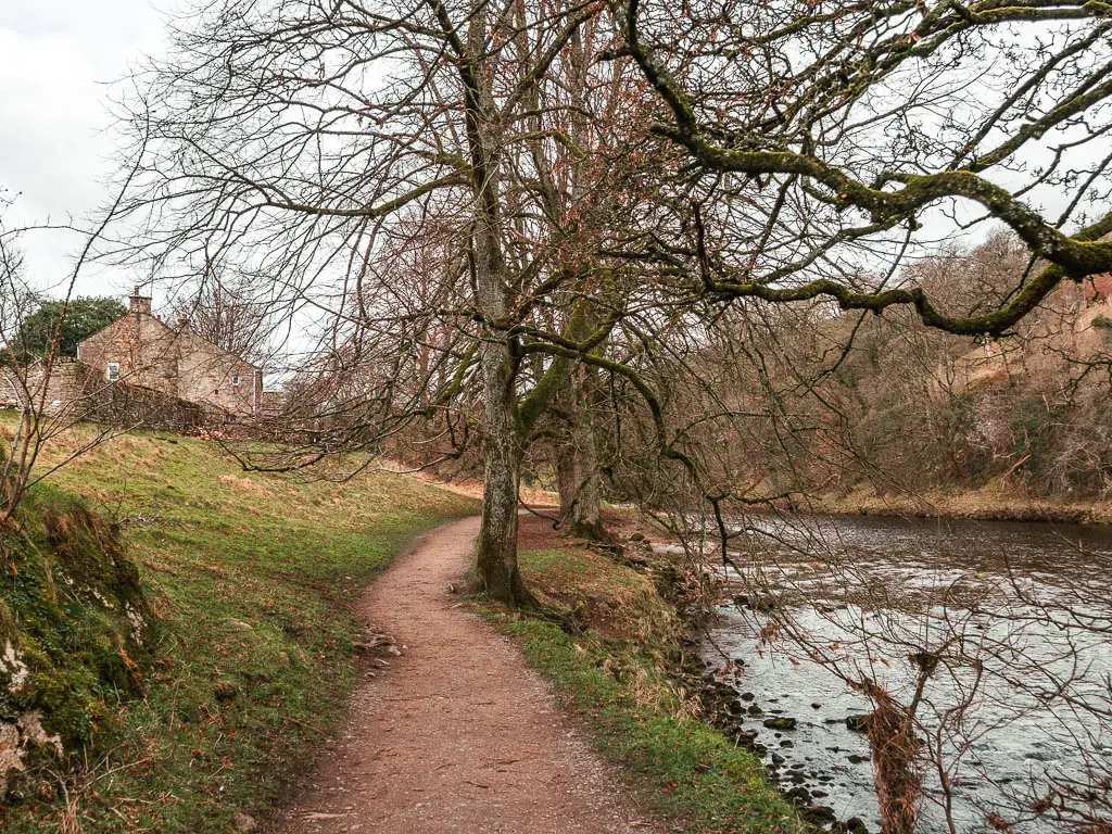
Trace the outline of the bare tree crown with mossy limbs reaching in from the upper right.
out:
<instances>
[{"instance_id":1,"label":"bare tree crown with mossy limbs reaching in from the upper right","mask_svg":"<svg viewBox=\"0 0 1112 834\"><path fill-rule=\"evenodd\" d=\"M1112 231L1102 207L1112 156L1101 145L1110 24L1092 7L612 9L623 51L665 105L654 132L709 178L686 247L703 292L825 297L873 312L907 305L929 326L996 336L1063 280L1112 266L1112 240L1102 239ZM1040 211L1040 199L1061 205L1059 215ZM742 201L748 217L736 211ZM966 315L940 310L922 286L877 285L853 269L854 251L868 247L874 262L898 262L939 207L959 221L1002 221L1043 266L997 306ZM775 267L770 245L782 254Z\"/></svg>"}]
</instances>

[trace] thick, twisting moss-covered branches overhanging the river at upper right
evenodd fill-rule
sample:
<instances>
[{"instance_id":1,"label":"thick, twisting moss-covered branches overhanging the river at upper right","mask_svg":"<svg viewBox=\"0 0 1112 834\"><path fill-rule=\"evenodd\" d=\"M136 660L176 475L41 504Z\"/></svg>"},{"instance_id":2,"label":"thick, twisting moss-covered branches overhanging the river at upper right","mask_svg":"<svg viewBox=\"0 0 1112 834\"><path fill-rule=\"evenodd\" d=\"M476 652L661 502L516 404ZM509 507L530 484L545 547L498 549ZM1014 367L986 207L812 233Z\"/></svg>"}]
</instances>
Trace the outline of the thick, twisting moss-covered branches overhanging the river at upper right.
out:
<instances>
[{"instance_id":1,"label":"thick, twisting moss-covered branches overhanging the river at upper right","mask_svg":"<svg viewBox=\"0 0 1112 834\"><path fill-rule=\"evenodd\" d=\"M639 0L610 2L626 41L622 51L634 58L649 85L672 111L673 122L656 125L654 131L685 148L705 169L753 177L805 178L828 191L824 196L824 201L828 205L840 211L866 212L872 227L877 230L913 221L923 208L945 198L970 200L1005 222L1036 257L1049 261L1046 268L1007 305L975 317L941 314L920 288L861 292L845 284L826 279L796 287L774 287L767 280L724 280L712 282L712 292L728 298L753 297L774 302L827 296L836 299L844 309L866 309L874 312L892 305L911 305L931 327L963 335L997 335L1030 312L1063 279L1080 280L1085 276L1112 270L1112 240L1101 239L1112 232L1112 214L1086 229L1072 236L1066 235L1010 191L979 176L980 171L1006 158L1029 139L1041 136L1080 110L1112 96L1112 83L1104 82L1068 98L1042 119L1021 128L995 151L971 162L964 169L922 175L891 173L876 186L868 186L847 170L808 153L782 149L734 149L708 141L693 100L668 69L657 62L651 50L641 42L637 30L638 6ZM1081 8L1086 16L1102 13L1101 9L1089 3ZM1027 13L1033 10L1023 8L1019 11ZM982 17L1000 11L1002 9L995 3L970 7L971 14Z\"/></svg>"}]
</instances>

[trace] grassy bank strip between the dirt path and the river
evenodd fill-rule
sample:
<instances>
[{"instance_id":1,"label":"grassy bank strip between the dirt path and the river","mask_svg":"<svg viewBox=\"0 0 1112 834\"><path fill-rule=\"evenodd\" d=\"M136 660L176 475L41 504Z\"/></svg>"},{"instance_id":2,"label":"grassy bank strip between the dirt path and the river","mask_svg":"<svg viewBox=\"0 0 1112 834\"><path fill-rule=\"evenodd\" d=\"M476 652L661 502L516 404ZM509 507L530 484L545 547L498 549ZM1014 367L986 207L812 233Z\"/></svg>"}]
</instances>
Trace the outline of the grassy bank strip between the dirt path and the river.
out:
<instances>
[{"instance_id":1,"label":"grassy bank strip between the dirt path and the river","mask_svg":"<svg viewBox=\"0 0 1112 834\"><path fill-rule=\"evenodd\" d=\"M525 579L583 631L569 635L548 622L483 610L552 681L638 804L675 831L805 831L761 761L698 717L698 698L673 675L682 659L678 618L645 573L546 542L530 526L520 554Z\"/></svg>"}]
</instances>

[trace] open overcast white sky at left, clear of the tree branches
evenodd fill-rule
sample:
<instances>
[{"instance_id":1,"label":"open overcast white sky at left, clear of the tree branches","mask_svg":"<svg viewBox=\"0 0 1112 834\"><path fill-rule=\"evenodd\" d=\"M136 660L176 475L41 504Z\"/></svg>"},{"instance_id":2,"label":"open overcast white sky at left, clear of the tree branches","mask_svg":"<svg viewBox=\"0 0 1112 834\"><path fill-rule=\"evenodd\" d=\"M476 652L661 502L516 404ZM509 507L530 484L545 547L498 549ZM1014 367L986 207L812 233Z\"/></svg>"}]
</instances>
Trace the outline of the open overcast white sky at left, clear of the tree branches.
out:
<instances>
[{"instance_id":1,"label":"open overcast white sky at left, clear of the tree branches","mask_svg":"<svg viewBox=\"0 0 1112 834\"><path fill-rule=\"evenodd\" d=\"M163 32L150 0L0 0L0 186L20 193L7 225L79 217L103 201L101 181L116 165L105 133L109 85L157 53ZM66 277L76 244L60 232L24 239L36 286ZM127 282L101 274L78 291L117 294Z\"/></svg>"}]
</instances>

